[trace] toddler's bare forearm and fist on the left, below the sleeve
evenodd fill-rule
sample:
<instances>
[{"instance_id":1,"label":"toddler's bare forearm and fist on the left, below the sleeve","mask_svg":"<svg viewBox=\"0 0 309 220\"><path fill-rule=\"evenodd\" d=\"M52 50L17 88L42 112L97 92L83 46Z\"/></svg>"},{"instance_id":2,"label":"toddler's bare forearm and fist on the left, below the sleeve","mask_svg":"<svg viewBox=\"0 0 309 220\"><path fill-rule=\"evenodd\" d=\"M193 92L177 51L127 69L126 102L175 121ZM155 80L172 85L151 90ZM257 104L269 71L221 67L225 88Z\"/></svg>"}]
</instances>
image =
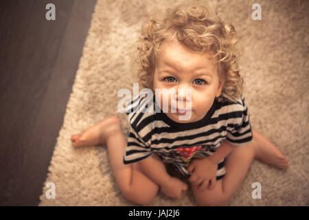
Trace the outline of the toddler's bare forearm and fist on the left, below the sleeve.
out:
<instances>
[{"instance_id":1,"label":"toddler's bare forearm and fist on the left, below the sleeve","mask_svg":"<svg viewBox=\"0 0 309 220\"><path fill-rule=\"evenodd\" d=\"M141 170L158 184L161 191L172 198L181 198L182 192L187 190L187 184L180 179L171 177L161 161L161 159L154 154L139 162Z\"/></svg>"}]
</instances>

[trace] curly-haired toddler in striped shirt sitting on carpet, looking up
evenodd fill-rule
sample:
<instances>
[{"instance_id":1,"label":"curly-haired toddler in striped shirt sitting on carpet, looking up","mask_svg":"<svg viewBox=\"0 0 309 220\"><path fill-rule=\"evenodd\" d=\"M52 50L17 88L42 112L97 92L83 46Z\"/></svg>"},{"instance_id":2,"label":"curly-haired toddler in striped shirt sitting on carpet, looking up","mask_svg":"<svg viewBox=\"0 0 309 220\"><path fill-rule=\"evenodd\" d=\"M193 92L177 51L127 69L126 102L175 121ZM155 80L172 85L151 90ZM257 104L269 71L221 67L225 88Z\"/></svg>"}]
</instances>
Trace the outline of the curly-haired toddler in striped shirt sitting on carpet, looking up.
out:
<instances>
[{"instance_id":1,"label":"curly-haired toddler in striped shirt sitting on carpet, looking up","mask_svg":"<svg viewBox=\"0 0 309 220\"><path fill-rule=\"evenodd\" d=\"M128 140L113 116L73 135L73 146L106 144L119 189L141 205L158 190L181 198L190 184L199 206L222 206L253 159L287 168L279 149L251 128L237 41L233 25L211 17L203 5L166 10L142 31L139 83L153 95L127 104Z\"/></svg>"}]
</instances>

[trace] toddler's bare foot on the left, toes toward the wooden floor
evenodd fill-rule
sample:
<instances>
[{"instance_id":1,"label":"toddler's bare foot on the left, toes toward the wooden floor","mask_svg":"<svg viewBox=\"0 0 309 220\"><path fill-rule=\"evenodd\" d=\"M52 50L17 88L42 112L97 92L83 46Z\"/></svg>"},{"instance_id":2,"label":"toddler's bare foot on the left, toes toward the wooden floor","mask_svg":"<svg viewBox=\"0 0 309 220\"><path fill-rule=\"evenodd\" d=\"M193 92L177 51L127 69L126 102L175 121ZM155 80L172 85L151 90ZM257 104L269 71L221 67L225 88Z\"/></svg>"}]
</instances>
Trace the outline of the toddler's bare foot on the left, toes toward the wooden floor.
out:
<instances>
[{"instance_id":1,"label":"toddler's bare foot on the left, toes toward the wooden floor","mask_svg":"<svg viewBox=\"0 0 309 220\"><path fill-rule=\"evenodd\" d=\"M120 121L117 117L109 117L81 134L71 136L73 146L95 146L104 144L106 138L115 132L121 132Z\"/></svg>"}]
</instances>

